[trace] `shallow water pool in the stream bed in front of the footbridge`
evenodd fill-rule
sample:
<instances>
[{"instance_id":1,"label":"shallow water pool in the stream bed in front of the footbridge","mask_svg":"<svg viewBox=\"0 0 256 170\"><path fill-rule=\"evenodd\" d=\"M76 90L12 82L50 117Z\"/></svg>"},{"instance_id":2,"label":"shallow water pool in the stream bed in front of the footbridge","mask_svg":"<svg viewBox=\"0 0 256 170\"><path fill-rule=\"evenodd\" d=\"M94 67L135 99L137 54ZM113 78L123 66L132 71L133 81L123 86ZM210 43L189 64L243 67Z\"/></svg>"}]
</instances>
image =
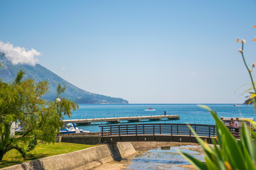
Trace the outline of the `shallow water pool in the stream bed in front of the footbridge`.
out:
<instances>
[{"instance_id":1,"label":"shallow water pool in the stream bed in front of the footbridge","mask_svg":"<svg viewBox=\"0 0 256 170\"><path fill-rule=\"evenodd\" d=\"M132 164L127 166L127 169L186 169L179 166L188 165L191 163L184 159L181 154L178 154L176 149L180 149L181 152L185 152L187 154L192 154L196 159L204 161L203 154L191 151L189 149L182 149L184 147L187 148L196 146L186 145L181 147L171 147L171 149L168 150L151 149L139 157L132 159Z\"/></svg>"}]
</instances>

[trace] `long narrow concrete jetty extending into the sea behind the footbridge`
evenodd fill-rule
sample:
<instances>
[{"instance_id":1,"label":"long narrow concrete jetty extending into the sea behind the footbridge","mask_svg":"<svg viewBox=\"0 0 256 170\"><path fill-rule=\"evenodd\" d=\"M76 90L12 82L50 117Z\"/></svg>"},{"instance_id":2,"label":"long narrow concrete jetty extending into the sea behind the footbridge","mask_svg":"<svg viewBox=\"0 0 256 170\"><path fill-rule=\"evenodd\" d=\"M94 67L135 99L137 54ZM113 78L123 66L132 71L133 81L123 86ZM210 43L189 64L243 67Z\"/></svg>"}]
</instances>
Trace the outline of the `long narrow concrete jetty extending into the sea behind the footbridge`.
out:
<instances>
[{"instance_id":1,"label":"long narrow concrete jetty extending into the sea behind the footbridge","mask_svg":"<svg viewBox=\"0 0 256 170\"><path fill-rule=\"evenodd\" d=\"M72 119L63 120L64 123L75 123L78 125L90 125L90 123L107 122L107 123L119 123L121 120L127 120L129 122L140 122L141 120L178 120L179 115L146 115L146 116L130 116L119 118L93 118L93 119Z\"/></svg>"}]
</instances>

